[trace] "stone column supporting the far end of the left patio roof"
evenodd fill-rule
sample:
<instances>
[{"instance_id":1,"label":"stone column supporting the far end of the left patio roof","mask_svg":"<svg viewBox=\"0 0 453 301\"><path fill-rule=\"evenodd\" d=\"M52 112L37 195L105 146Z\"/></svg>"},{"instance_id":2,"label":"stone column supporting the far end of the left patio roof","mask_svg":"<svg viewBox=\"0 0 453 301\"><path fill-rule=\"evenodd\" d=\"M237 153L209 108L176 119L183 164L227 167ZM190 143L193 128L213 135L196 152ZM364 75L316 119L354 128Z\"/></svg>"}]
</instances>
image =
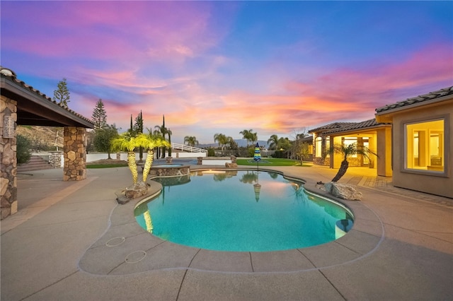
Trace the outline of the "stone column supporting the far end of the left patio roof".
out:
<instances>
[{"instance_id":1,"label":"stone column supporting the far end of the left patio roof","mask_svg":"<svg viewBox=\"0 0 453 301\"><path fill-rule=\"evenodd\" d=\"M63 181L86 179L86 129L64 126Z\"/></svg>"}]
</instances>

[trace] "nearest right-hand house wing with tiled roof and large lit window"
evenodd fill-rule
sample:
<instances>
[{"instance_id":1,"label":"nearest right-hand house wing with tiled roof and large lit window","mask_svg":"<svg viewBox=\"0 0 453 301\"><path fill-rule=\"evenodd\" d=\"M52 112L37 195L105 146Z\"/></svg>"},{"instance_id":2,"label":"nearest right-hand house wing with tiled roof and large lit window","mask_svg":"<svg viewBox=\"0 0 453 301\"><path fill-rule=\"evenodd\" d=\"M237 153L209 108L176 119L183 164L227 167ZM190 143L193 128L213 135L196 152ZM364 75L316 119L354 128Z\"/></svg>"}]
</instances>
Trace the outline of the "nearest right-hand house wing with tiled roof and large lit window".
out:
<instances>
[{"instance_id":1,"label":"nearest right-hand house wing with tiled roof and large lit window","mask_svg":"<svg viewBox=\"0 0 453 301\"><path fill-rule=\"evenodd\" d=\"M391 123L393 184L453 198L453 86L379 107Z\"/></svg>"}]
</instances>

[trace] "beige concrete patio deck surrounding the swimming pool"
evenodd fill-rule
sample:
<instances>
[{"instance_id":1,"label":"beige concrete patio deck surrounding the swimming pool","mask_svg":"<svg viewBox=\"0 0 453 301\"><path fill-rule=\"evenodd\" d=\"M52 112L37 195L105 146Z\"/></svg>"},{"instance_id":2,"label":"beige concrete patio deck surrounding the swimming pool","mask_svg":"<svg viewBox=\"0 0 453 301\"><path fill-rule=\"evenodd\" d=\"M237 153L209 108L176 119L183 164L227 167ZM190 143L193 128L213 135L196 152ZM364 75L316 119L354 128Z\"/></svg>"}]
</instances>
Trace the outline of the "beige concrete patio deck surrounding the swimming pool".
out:
<instances>
[{"instance_id":1,"label":"beige concrete patio deck surrounding the swimming pool","mask_svg":"<svg viewBox=\"0 0 453 301\"><path fill-rule=\"evenodd\" d=\"M203 168L209 168L202 166ZM196 165L193 168L197 168ZM328 182L328 167L274 167ZM369 175L363 175L369 172ZM210 252L165 242L135 223L115 191L127 167L18 175L18 207L1 225L1 300L453 300L453 200L350 168L362 201L354 228L285 252ZM151 187L156 188L156 187Z\"/></svg>"}]
</instances>

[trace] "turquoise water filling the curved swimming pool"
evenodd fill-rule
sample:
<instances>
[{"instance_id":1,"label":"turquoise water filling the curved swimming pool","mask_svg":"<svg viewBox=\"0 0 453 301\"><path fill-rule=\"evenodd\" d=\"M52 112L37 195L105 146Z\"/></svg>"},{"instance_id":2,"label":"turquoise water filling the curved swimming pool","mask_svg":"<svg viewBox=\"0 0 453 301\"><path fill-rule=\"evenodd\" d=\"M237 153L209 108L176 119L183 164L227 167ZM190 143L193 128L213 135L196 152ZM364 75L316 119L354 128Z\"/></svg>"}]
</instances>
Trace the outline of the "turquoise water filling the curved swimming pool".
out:
<instances>
[{"instance_id":1,"label":"turquoise water filling the curved swimming pool","mask_svg":"<svg viewBox=\"0 0 453 301\"><path fill-rule=\"evenodd\" d=\"M256 170L191 172L134 213L162 240L230 252L311 247L338 238L338 220L352 224L350 211L306 194L302 182Z\"/></svg>"}]
</instances>

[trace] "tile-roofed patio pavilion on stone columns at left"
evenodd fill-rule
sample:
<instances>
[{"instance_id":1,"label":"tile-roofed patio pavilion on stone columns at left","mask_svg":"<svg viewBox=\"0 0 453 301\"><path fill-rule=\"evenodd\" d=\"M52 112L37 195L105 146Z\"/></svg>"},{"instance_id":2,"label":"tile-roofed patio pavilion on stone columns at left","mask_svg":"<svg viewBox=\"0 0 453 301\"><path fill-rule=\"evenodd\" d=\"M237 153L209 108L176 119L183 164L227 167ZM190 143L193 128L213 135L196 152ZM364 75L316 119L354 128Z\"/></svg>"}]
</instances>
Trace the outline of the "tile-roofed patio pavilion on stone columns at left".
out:
<instances>
[{"instance_id":1,"label":"tile-roofed patio pavilion on stone columns at left","mask_svg":"<svg viewBox=\"0 0 453 301\"><path fill-rule=\"evenodd\" d=\"M0 76L0 197L3 219L17 212L16 126L62 126L63 181L79 181L86 178L86 129L93 129L94 124L18 80L11 69L0 66Z\"/></svg>"}]
</instances>

